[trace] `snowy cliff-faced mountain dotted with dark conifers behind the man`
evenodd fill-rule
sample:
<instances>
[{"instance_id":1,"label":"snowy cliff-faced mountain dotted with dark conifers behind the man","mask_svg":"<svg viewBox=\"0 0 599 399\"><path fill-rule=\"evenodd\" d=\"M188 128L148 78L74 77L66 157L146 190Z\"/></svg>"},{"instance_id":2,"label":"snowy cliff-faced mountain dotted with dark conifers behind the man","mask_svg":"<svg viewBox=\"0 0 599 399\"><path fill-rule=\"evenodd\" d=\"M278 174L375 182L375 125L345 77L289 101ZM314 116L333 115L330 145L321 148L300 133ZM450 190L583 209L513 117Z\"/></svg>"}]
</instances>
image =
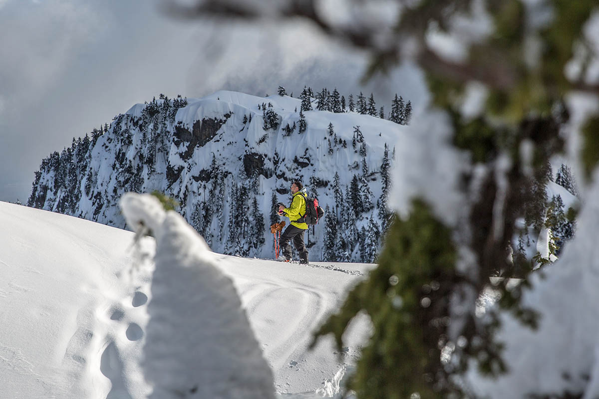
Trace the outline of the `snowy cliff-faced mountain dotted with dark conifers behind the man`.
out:
<instances>
[{"instance_id":1,"label":"snowy cliff-faced mountain dotted with dark conifers behind the man","mask_svg":"<svg viewBox=\"0 0 599 399\"><path fill-rule=\"evenodd\" d=\"M274 204L289 203L298 179L327 209L307 234L310 260L371 262L404 121L340 108L326 89L308 93L134 105L44 159L28 205L124 228L119 198L158 190L213 251L273 257ZM397 108L390 115L397 120Z\"/></svg>"}]
</instances>

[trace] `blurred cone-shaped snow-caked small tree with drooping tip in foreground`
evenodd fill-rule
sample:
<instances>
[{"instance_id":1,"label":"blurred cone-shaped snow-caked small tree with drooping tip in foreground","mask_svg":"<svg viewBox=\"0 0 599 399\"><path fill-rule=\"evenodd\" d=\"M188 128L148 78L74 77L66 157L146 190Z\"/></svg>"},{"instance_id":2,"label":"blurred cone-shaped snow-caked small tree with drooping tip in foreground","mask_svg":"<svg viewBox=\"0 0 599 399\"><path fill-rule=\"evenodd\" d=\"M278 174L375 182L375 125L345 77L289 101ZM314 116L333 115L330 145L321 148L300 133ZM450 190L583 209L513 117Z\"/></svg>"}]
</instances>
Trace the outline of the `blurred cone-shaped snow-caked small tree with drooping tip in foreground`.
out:
<instances>
[{"instance_id":1,"label":"blurred cone-shaped snow-caked small tree with drooping tip in foreground","mask_svg":"<svg viewBox=\"0 0 599 399\"><path fill-rule=\"evenodd\" d=\"M142 363L150 398L273 398L273 373L204 239L149 194L127 193L120 206L138 234L156 237Z\"/></svg>"}]
</instances>

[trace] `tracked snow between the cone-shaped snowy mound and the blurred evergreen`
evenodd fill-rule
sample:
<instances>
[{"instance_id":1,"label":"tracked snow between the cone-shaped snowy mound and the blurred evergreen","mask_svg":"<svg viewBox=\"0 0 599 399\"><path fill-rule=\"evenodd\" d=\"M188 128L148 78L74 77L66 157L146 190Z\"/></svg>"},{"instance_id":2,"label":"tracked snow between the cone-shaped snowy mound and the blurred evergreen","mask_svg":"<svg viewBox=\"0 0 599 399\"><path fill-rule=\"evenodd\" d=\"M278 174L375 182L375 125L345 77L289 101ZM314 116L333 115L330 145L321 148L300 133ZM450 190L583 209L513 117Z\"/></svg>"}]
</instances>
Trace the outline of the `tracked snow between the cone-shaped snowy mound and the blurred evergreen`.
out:
<instances>
[{"instance_id":1,"label":"tracked snow between the cone-shaped snowy mound and the blurred evergreen","mask_svg":"<svg viewBox=\"0 0 599 399\"><path fill-rule=\"evenodd\" d=\"M308 346L314 331L339 306L344 287L357 282L369 267L362 268L364 272L361 272L335 264L284 263L226 255L217 258L222 262L220 266L227 265L223 271L234 279L264 357L273 368L279 397L337 397L341 379L346 375L347 366L355 361L358 348L345 348L338 356L332 340L319 339L318 348L314 350ZM252 261L251 266L244 266L247 261ZM238 267L229 267L231 263L237 263ZM261 270L253 273L252 267L258 266L268 268L270 273L261 273ZM320 289L317 282L305 279L314 276L314 272L308 270L314 270L323 281L337 281L340 290ZM280 278L279 272L289 273L289 278ZM356 334L364 330L362 325ZM355 342L352 345L356 345ZM323 355L323 351L328 355Z\"/></svg>"}]
</instances>

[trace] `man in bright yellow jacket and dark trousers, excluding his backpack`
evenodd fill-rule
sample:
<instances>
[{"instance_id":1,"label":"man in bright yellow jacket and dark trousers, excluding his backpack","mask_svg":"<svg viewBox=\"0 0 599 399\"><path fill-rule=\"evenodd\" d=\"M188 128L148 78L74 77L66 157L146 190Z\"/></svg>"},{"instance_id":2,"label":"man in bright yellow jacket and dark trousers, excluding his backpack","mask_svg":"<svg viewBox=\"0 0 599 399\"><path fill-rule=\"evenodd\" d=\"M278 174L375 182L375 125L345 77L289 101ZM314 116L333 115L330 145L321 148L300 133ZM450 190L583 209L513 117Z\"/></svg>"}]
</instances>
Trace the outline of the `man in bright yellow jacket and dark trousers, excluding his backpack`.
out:
<instances>
[{"instance_id":1,"label":"man in bright yellow jacket and dark trousers, excluding his backpack","mask_svg":"<svg viewBox=\"0 0 599 399\"><path fill-rule=\"evenodd\" d=\"M299 181L294 181L291 184L291 206L285 208L279 205L279 214L289 218L291 224L281 234L279 239L279 247L283 249L285 261L291 261L291 245L289 241L294 240L295 249L299 252L299 263L308 263L308 250L304 244L304 232L308 230L308 225L304 223L305 216L305 196L307 192L304 186Z\"/></svg>"}]
</instances>

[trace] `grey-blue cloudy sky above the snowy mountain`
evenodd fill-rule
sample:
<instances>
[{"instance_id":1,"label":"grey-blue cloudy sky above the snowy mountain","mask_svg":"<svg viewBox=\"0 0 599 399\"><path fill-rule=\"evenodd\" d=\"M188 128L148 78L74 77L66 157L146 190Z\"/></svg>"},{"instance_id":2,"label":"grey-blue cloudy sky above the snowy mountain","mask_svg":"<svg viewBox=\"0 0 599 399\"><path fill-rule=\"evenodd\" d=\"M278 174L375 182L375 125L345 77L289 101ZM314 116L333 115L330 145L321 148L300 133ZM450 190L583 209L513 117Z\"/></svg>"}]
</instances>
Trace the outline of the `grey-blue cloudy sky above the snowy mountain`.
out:
<instances>
[{"instance_id":1,"label":"grey-blue cloudy sky above the snowy mountain","mask_svg":"<svg viewBox=\"0 0 599 399\"><path fill-rule=\"evenodd\" d=\"M415 111L422 78L399 68L361 87L367 59L310 25L258 26L161 14L158 0L0 0L0 200L25 203L41 160L134 103L164 93L255 95L279 85L374 92L389 111L397 92ZM10 39L7 39L10 38Z\"/></svg>"}]
</instances>

